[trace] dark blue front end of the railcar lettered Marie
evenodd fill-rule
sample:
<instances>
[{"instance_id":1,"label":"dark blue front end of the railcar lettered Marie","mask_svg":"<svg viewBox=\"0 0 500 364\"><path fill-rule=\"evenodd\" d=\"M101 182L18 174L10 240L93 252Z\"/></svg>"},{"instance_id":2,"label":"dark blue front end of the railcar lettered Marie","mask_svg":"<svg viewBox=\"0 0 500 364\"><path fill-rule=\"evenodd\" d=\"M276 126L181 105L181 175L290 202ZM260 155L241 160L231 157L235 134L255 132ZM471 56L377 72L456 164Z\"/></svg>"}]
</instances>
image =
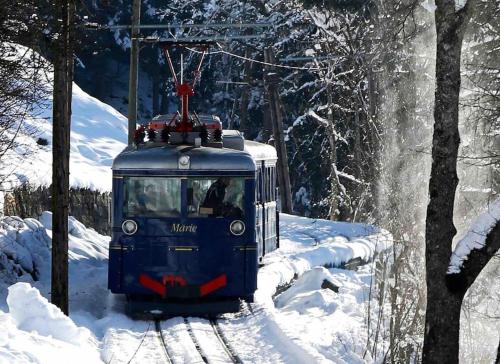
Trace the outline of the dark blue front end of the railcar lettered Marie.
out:
<instances>
[{"instance_id":1,"label":"dark blue front end of the railcar lettered Marie","mask_svg":"<svg viewBox=\"0 0 500 364\"><path fill-rule=\"evenodd\" d=\"M130 313L235 312L252 300L255 170L226 148L129 147L115 159L108 287Z\"/></svg>"}]
</instances>

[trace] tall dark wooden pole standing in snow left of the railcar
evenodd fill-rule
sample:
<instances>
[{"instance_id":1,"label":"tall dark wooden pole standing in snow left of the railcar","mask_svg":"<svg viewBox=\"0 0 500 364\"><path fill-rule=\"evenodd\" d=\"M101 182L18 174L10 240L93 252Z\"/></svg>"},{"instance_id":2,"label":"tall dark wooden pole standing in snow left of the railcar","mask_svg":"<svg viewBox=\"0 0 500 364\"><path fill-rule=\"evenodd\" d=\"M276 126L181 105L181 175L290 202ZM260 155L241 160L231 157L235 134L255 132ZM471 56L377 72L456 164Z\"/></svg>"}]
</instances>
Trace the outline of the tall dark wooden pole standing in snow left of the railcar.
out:
<instances>
[{"instance_id":1,"label":"tall dark wooden pole standing in snow left of the railcar","mask_svg":"<svg viewBox=\"0 0 500 364\"><path fill-rule=\"evenodd\" d=\"M54 14L60 21L55 27L57 39L54 41L51 301L67 315L69 153L75 0L55 1Z\"/></svg>"}]
</instances>

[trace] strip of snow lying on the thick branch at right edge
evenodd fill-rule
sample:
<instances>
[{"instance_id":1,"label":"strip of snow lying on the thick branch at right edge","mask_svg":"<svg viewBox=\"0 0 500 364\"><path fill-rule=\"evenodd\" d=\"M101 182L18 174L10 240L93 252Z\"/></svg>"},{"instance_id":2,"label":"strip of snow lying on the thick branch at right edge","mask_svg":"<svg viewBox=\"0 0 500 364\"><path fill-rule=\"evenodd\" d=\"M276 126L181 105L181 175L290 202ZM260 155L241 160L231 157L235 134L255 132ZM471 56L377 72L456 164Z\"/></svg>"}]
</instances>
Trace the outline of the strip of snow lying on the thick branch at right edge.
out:
<instances>
[{"instance_id":1,"label":"strip of snow lying on the thick branch at right edge","mask_svg":"<svg viewBox=\"0 0 500 364\"><path fill-rule=\"evenodd\" d=\"M473 250L480 250L486 245L486 238L500 221L500 198L488 206L488 210L478 216L469 232L457 243L451 254L447 274L459 274L464 262Z\"/></svg>"}]
</instances>

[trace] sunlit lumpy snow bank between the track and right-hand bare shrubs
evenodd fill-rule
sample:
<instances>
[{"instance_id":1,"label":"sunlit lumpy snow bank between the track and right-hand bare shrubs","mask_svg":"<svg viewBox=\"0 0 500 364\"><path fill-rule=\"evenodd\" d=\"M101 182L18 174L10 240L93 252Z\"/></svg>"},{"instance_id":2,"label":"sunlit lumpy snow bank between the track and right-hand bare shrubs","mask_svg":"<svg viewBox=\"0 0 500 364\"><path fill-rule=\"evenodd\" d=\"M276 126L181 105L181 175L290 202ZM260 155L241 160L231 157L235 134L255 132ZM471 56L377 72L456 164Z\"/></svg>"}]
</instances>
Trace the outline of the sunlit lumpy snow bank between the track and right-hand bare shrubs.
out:
<instances>
[{"instance_id":1,"label":"sunlit lumpy snow bank between the track and right-hand bare shrubs","mask_svg":"<svg viewBox=\"0 0 500 364\"><path fill-rule=\"evenodd\" d=\"M371 264L357 272L315 268L277 297L274 319L284 334L314 355L316 362L355 364L374 360L366 352L366 313L377 315L376 303L369 304ZM338 293L321 289L322 279L334 279ZM384 345L381 339L379 345Z\"/></svg>"}]
</instances>

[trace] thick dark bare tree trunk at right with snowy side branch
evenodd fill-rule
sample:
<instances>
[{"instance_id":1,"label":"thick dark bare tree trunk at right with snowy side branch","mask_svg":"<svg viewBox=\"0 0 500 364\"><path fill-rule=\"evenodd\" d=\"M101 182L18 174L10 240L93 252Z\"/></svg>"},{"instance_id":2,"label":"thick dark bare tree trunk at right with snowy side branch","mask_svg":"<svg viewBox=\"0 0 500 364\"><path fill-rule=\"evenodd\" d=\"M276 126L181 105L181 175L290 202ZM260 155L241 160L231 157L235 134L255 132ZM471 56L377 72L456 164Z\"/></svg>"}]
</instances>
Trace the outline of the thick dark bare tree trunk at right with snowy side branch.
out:
<instances>
[{"instance_id":1,"label":"thick dark bare tree trunk at right with snowy side branch","mask_svg":"<svg viewBox=\"0 0 500 364\"><path fill-rule=\"evenodd\" d=\"M448 289L446 272L456 234L453 208L458 185L457 154L460 144L460 59L472 1L456 11L453 0L436 0L436 93L425 231L427 311L423 363L458 363L460 309L465 292Z\"/></svg>"}]
</instances>

